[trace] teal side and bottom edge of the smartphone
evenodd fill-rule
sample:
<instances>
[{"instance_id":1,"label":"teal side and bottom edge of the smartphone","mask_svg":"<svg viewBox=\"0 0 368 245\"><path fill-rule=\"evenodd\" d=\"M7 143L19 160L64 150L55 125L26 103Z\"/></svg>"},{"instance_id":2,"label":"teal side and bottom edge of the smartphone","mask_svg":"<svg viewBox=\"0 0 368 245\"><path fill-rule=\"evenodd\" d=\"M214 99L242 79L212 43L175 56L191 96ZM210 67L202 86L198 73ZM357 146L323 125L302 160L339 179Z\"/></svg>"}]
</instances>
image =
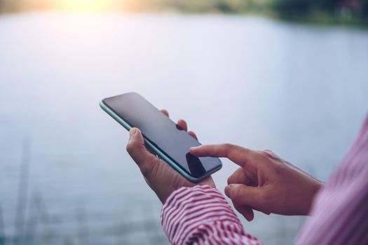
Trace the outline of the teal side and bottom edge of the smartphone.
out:
<instances>
[{"instance_id":1,"label":"teal side and bottom edge of the smartphone","mask_svg":"<svg viewBox=\"0 0 368 245\"><path fill-rule=\"evenodd\" d=\"M121 117L116 115L116 113L114 113L114 111L111 111L111 109L109 109L109 107L107 107L104 104L103 100L100 102L100 107L107 114L109 114L109 116L111 116L111 118L114 118L114 120L116 120L116 122L118 122L120 125L122 125L125 128L125 130L130 131L132 126L130 126L128 123L126 123ZM179 172L179 174L182 174L182 176L184 176L184 178L188 179L191 182L196 183L196 182L202 181L207 176L210 176L211 174L213 174L214 172L217 172L219 169L222 168L222 162L220 162L219 167L217 167L215 169L212 169L212 171L208 172L207 174L205 174L204 176L202 176L200 178L195 178L193 176L190 176L188 173L184 172L184 170L182 168L177 166L177 164L175 162L173 162L170 158L168 158L160 149L156 148L156 146L154 146L149 141L147 141L145 137L143 137L143 138L144 138L145 143L154 151L154 153L156 153L158 155L159 158L161 158L165 162L168 162L168 164L172 168L174 168L177 172Z\"/></svg>"}]
</instances>

